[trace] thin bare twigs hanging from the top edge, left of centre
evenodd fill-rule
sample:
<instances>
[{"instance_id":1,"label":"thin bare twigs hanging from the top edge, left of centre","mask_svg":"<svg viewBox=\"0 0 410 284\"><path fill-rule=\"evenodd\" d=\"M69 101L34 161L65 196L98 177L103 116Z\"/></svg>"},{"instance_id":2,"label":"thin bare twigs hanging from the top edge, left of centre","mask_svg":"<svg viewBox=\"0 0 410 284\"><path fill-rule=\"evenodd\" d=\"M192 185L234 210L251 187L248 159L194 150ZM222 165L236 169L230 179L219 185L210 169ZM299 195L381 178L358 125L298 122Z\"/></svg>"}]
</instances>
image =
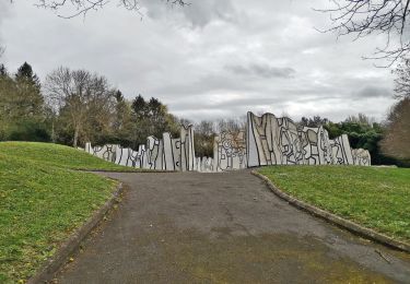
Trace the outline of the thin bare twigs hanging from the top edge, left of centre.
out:
<instances>
[{"instance_id":1,"label":"thin bare twigs hanging from the top edge, left of centre","mask_svg":"<svg viewBox=\"0 0 410 284\"><path fill-rule=\"evenodd\" d=\"M11 0L13 1L13 0ZM162 0L172 5L187 5L185 0ZM37 0L36 5L39 8L50 9L59 12L60 10L68 9L68 14L58 14L60 17L71 19L79 15L86 15L90 11L97 11L103 9L109 1L108 0ZM117 0L119 7L129 11L139 11L139 0ZM67 10L66 10L67 11Z\"/></svg>"}]
</instances>

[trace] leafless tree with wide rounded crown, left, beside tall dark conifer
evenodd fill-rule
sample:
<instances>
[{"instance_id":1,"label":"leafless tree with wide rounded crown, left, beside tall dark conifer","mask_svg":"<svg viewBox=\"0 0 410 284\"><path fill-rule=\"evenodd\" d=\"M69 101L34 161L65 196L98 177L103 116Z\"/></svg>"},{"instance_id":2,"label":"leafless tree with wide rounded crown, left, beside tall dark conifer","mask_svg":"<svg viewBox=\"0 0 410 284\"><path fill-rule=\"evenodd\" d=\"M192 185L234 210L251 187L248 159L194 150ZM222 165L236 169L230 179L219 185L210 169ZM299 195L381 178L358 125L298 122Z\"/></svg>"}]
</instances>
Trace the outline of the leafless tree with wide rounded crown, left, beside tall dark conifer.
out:
<instances>
[{"instance_id":1,"label":"leafless tree with wide rounded crown, left, beside tall dark conifer","mask_svg":"<svg viewBox=\"0 0 410 284\"><path fill-rule=\"evenodd\" d=\"M115 92L107 80L85 70L71 71L60 67L47 75L45 90L56 110L69 114L74 130L74 147L79 143L80 134L89 129L87 121L106 119L106 114L115 103Z\"/></svg>"}]
</instances>

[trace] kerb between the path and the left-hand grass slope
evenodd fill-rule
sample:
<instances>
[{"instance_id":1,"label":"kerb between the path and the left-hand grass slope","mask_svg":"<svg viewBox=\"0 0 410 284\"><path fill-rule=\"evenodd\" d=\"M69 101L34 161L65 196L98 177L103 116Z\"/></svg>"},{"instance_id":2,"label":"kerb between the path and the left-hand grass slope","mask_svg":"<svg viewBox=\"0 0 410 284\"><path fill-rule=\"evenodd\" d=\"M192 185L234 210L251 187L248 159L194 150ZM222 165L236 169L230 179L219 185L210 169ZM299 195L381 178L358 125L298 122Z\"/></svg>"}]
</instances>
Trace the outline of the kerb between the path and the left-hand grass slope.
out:
<instances>
[{"instance_id":1,"label":"kerb between the path and the left-hand grass slope","mask_svg":"<svg viewBox=\"0 0 410 284\"><path fill-rule=\"evenodd\" d=\"M46 283L54 277L54 274L60 269L62 264L67 262L67 259L73 253L90 234L90 232L96 227L99 222L103 221L105 214L113 209L113 206L119 202L119 197L124 191L122 182L120 182L112 197L105 204L99 208L90 218L70 235L67 241L65 241L56 251L56 253L48 259L37 271L37 273L30 277L27 284Z\"/></svg>"}]
</instances>

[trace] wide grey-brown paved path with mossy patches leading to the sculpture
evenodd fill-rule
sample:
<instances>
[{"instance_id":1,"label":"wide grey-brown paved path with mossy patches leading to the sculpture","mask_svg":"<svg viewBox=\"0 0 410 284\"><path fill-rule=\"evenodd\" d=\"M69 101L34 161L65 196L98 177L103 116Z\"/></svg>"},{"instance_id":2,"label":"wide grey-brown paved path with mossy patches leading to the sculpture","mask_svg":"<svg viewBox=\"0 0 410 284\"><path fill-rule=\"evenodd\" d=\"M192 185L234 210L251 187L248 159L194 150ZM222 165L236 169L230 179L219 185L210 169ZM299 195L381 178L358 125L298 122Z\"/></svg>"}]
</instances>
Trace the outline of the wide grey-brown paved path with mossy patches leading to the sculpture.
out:
<instances>
[{"instance_id":1,"label":"wide grey-brown paved path with mossy patches leading to the sculpture","mask_svg":"<svg viewBox=\"0 0 410 284\"><path fill-rule=\"evenodd\" d=\"M105 175L129 189L58 282L410 283L409 255L294 209L249 171Z\"/></svg>"}]
</instances>

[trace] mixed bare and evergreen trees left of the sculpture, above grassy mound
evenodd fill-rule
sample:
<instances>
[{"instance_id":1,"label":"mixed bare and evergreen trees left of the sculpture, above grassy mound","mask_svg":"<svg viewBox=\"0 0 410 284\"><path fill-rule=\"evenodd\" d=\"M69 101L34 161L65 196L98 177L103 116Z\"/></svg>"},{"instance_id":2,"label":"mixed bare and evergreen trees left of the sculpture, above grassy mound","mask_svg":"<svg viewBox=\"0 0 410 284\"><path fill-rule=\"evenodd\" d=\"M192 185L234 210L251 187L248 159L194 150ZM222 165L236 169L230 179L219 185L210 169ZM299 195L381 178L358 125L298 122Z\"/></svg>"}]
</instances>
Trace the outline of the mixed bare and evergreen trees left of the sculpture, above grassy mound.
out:
<instances>
[{"instance_id":1,"label":"mixed bare and evergreen trees left of the sculpture, above grassy mound","mask_svg":"<svg viewBox=\"0 0 410 284\"><path fill-rule=\"evenodd\" d=\"M83 146L119 143L138 147L147 137L177 135L180 120L152 97L126 99L108 80L60 67L44 85L24 62L16 73L0 66L0 140Z\"/></svg>"}]
</instances>

